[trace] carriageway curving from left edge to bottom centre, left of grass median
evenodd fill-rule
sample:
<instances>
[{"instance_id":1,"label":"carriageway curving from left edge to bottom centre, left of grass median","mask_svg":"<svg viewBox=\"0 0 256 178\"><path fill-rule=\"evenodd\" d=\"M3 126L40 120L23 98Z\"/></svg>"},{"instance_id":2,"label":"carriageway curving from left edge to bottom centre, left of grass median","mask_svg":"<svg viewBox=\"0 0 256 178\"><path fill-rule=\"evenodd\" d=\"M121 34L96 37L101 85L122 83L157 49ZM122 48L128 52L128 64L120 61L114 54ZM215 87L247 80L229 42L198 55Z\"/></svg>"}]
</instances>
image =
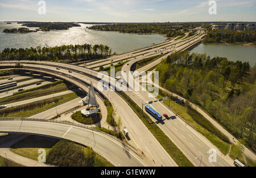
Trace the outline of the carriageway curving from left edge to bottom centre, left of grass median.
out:
<instances>
[{"instance_id":1,"label":"carriageway curving from left edge to bottom centre, left of grass median","mask_svg":"<svg viewBox=\"0 0 256 178\"><path fill-rule=\"evenodd\" d=\"M56 69L54 66L44 66L42 65L42 61L39 64L26 64L24 63L23 69L26 69L26 67L34 67L36 69L29 69L30 71L41 71L43 73L49 74L50 72L47 72L47 70L53 71L52 75L62 78L67 81L71 81L75 83L79 88L86 90L85 86L81 86L81 84L77 84L75 81L72 81L71 79L64 77L63 74L57 74L58 72L62 72L65 74L70 73L67 70L61 69L60 71ZM48 63L51 64L51 63ZM56 63L53 63L56 65ZM15 65L14 63L1 63L0 65ZM74 67L74 69L81 67L77 67L75 65L70 64L63 64L62 67ZM39 68L41 68L39 70ZM73 69L73 70L74 70ZM82 68L83 69L83 68ZM88 69L91 71L90 69ZM84 71L83 71L84 72ZM94 72L94 71L93 71ZM96 71L95 71L96 72ZM97 72L96 72L97 73ZM90 82L89 76L85 76L82 73L77 73L75 71L72 72L72 77L80 78L81 81ZM98 80L94 80L92 78L92 82L94 87L98 85ZM138 116L134 113L134 111L130 108L130 106L122 100L122 98L115 92L108 92L103 91L102 92L104 96L106 96L110 102L112 102L112 105L114 107L114 110L117 112L117 114L121 117L121 121L123 125L127 127L129 130L130 138L133 140L135 145L140 151L143 151L144 153L144 159L143 164L147 166L160 166L163 164L163 166L177 166L177 164L174 162L174 160L171 158L171 156L164 150L164 148L160 145L160 143L155 139L154 135L150 133L150 131L147 129L146 126L144 126L141 119L138 118ZM122 109L121 107L122 106ZM1 131L1 130L0 130ZM129 143L129 142L128 142ZM154 160L154 162L152 161Z\"/></svg>"}]
</instances>

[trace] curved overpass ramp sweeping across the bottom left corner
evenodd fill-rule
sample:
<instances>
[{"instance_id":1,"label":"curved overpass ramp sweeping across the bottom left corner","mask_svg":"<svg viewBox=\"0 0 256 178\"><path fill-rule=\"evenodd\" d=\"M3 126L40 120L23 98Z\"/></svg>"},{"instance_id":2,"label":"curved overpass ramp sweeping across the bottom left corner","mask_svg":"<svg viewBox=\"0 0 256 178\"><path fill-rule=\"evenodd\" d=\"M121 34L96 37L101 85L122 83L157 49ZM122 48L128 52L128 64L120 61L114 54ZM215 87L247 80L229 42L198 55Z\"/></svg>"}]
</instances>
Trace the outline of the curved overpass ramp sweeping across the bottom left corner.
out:
<instances>
[{"instance_id":1,"label":"curved overpass ramp sweeping across the bottom left corner","mask_svg":"<svg viewBox=\"0 0 256 178\"><path fill-rule=\"evenodd\" d=\"M115 166L141 167L144 166L129 148L112 137L99 132L72 126L65 123L36 122L36 121L0 121L1 133L24 133L55 136L72 140L85 146L94 147L93 133L96 145L93 148L101 156L104 156Z\"/></svg>"}]
</instances>

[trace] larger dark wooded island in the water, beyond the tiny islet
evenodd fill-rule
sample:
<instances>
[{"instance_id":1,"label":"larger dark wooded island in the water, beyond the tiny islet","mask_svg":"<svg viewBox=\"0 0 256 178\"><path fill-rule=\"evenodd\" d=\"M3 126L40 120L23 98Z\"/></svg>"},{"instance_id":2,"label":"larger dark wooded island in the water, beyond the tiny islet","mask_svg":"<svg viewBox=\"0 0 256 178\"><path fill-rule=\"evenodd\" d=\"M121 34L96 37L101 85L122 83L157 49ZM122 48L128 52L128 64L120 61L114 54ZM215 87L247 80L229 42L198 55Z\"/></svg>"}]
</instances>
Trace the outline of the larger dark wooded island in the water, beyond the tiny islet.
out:
<instances>
[{"instance_id":1,"label":"larger dark wooded island in the water, beyond the tiny islet","mask_svg":"<svg viewBox=\"0 0 256 178\"><path fill-rule=\"evenodd\" d=\"M35 22L35 23L25 23L22 26L27 27L39 27L42 31L50 30L68 30L71 27L80 27L77 23L51 23L51 22Z\"/></svg>"}]
</instances>

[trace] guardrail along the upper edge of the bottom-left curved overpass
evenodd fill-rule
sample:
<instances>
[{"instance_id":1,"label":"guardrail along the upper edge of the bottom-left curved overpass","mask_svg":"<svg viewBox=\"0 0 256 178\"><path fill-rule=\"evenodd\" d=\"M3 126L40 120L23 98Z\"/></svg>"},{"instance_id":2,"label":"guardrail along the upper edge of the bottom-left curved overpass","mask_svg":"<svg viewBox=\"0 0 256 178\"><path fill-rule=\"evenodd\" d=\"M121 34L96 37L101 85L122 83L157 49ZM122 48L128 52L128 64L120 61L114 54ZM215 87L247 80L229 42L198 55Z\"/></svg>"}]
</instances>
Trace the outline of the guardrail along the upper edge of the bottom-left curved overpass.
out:
<instances>
[{"instance_id":1,"label":"guardrail along the upper edge of the bottom-left curved overpass","mask_svg":"<svg viewBox=\"0 0 256 178\"><path fill-rule=\"evenodd\" d=\"M138 156L141 157L141 155L139 155L134 148L131 148L130 146L128 146L125 142L123 142L122 140L116 138L115 136L106 133L105 131L93 128L93 127L88 127L85 125L80 125L77 123L72 123L72 122L61 122L61 121L55 121L55 120L48 120L48 119L36 119L36 118L0 118L0 122L2 121L34 121L34 122L50 122L50 123L59 123L59 124L63 124L63 125L69 125L69 126L76 126L76 127L80 127L82 129L87 129L87 130L92 130L92 131L96 131L98 133L104 134L104 135L108 135L111 138L117 140L119 143L122 144L123 147L125 148L129 148L129 150L133 151L135 154L137 154Z\"/></svg>"}]
</instances>

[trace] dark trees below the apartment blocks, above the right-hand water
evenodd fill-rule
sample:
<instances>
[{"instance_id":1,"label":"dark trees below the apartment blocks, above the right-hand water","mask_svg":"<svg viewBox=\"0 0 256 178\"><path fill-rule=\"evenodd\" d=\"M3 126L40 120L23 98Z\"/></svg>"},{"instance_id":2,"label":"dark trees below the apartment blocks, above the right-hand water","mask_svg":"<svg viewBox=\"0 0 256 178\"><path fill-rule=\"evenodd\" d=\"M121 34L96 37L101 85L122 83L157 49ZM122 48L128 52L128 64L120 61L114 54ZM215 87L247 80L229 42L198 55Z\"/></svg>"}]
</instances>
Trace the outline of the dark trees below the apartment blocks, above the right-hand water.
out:
<instances>
[{"instance_id":1,"label":"dark trees below the apartment blocks, above the right-hand water","mask_svg":"<svg viewBox=\"0 0 256 178\"><path fill-rule=\"evenodd\" d=\"M254 42L256 43L255 31L231 31L231 30L208 30L207 36L204 38L206 43L221 42Z\"/></svg>"}]
</instances>

